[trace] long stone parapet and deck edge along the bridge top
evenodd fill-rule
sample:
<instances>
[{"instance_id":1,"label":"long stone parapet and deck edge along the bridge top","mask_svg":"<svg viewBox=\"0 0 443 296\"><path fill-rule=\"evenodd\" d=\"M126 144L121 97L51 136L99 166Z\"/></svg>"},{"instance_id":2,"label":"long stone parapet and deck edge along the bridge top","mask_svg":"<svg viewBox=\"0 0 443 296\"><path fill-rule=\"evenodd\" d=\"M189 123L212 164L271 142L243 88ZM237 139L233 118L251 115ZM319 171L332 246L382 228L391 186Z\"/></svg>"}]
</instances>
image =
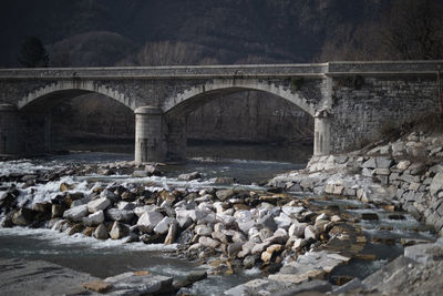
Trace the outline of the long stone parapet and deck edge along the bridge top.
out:
<instances>
[{"instance_id":1,"label":"long stone parapet and deck edge along the bridge top","mask_svg":"<svg viewBox=\"0 0 443 296\"><path fill-rule=\"evenodd\" d=\"M329 62L317 64L176 65L0 69L0 79L205 79L434 74L443 61Z\"/></svg>"}]
</instances>

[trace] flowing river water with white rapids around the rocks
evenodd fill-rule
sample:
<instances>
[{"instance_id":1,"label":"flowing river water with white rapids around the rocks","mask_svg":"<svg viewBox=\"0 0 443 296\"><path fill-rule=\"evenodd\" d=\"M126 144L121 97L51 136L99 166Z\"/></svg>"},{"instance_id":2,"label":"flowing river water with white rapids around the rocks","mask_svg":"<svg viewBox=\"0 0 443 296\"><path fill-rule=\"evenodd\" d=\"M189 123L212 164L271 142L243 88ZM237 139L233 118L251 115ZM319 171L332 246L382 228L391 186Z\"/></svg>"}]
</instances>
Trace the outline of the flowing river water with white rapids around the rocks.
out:
<instances>
[{"instance_id":1,"label":"flowing river water with white rapids around the rocks","mask_svg":"<svg viewBox=\"0 0 443 296\"><path fill-rule=\"evenodd\" d=\"M122 151L122 150L120 150ZM86 175L82 177L62 177L58 182L37 185L22 190L20 198L41 202L59 194L62 182L76 184L75 191L89 192L94 186L119 182L128 184L143 182L152 190L187 187L199 190L214 185L216 176L233 176L236 184L249 188L262 188L260 182L272 177L277 173L297 170L306 166L311 149L293 151L277 146L194 146L188 150L188 161L184 164L167 165L162 167L163 176L135 178L130 175ZM70 155L51 156L39 160L20 160L0 163L0 175L7 173L31 174L37 171L47 171L63 167L75 163L109 163L131 161L132 154L125 153L74 153ZM177 175L198 171L203 178L198 181L178 181ZM8 186L8 184L0 184ZM4 188L3 188L4 190ZM300 196L300 193L293 193ZM389 259L402 253L400 238L433 239L429 228L418 223L408 214L404 220L389 218L390 213L381 208L367 208L357 201L319 198L312 201L318 206L334 205L341 211L358 217L362 212L377 213L379 221L361 222L368 241L373 238L394 238L394 243L387 245L369 243L364 252L377 255L377 261L365 262L353 259L351 264L340 267L331 277L339 275L364 277L380 268ZM380 231L383 228L384 231ZM50 229L30 228L0 228L0 257L21 257L28 259L44 259L66 266L97 277L113 276L127 271L150 269L152 272L182 277L190 269L202 269L195 263L175 256L176 246L145 245L143 243L124 244L122 241L99 242L81 234L68 236ZM245 283L251 278L262 276L258 269L245 271L234 276L210 275L193 286L193 293L200 295L219 295L223 290Z\"/></svg>"}]
</instances>

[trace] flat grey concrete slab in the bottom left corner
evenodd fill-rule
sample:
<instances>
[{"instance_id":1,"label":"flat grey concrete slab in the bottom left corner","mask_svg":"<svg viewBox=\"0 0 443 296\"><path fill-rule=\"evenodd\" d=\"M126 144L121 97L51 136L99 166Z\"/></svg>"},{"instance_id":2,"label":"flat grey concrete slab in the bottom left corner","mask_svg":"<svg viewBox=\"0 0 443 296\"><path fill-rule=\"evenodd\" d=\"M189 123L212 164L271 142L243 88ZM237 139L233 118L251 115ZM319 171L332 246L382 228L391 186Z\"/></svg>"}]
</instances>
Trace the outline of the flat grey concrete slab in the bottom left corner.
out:
<instances>
[{"instance_id":1,"label":"flat grey concrete slab in the bottom left corner","mask_svg":"<svg viewBox=\"0 0 443 296\"><path fill-rule=\"evenodd\" d=\"M99 278L43 261L0 258L0 295L75 294L94 280Z\"/></svg>"}]
</instances>

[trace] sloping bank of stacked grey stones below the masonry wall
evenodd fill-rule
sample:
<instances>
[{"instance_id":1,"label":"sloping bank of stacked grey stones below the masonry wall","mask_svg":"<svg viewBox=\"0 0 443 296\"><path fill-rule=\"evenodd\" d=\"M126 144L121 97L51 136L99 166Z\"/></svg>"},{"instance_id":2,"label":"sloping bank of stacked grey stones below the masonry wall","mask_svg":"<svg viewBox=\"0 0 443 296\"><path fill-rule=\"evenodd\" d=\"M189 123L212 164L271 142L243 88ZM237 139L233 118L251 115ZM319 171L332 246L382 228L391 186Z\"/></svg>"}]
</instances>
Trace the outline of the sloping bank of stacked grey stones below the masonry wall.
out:
<instances>
[{"instance_id":1,"label":"sloping bank of stacked grey stones below the masonry wall","mask_svg":"<svg viewBox=\"0 0 443 296\"><path fill-rule=\"evenodd\" d=\"M313 156L303 171L269 184L291 191L391 204L443 232L443 137L411 133L344 155Z\"/></svg>"}]
</instances>

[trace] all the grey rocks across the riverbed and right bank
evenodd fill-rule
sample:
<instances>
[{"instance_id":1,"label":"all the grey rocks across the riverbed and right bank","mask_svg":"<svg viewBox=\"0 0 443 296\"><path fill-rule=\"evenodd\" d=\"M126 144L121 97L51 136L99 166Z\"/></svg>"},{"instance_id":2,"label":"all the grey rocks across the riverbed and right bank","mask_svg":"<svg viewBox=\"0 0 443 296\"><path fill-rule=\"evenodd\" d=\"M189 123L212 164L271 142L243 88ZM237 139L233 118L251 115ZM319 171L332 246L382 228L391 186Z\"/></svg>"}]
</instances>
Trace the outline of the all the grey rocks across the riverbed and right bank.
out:
<instances>
[{"instance_id":1,"label":"all the grey rocks across the riverbed and right bank","mask_svg":"<svg viewBox=\"0 0 443 296\"><path fill-rule=\"evenodd\" d=\"M430 228L401 210L441 231L442 143L440 137L411 134L347 155L313 157L306 170L278 175L270 187L256 188L220 177L205 188L164 190L136 181L162 175L162 166L128 162L8 172L0 177L1 226L172 245L177 256L206 264L209 274L261 269L261 276L226 295L419 293L419 284L434 276L430 271L441 274L443 244L423 235ZM119 174L132 175L134 182L79 182L86 175ZM192 183L200 177L194 172L178 180ZM39 184L51 186L51 194L38 192ZM396 222L418 235L392 236L400 229ZM369 235L369 226L378 235ZM379 235L383 232L390 235ZM367 262L363 269L369 269L368 263L380 259L372 252L374 244L400 244L404 252L402 247L402 256L365 279L340 273L356 262ZM138 271L84 283L82 289L188 294L188 287L205 277L206 273L190 273L178 280ZM405 286L404 280L411 283Z\"/></svg>"}]
</instances>

